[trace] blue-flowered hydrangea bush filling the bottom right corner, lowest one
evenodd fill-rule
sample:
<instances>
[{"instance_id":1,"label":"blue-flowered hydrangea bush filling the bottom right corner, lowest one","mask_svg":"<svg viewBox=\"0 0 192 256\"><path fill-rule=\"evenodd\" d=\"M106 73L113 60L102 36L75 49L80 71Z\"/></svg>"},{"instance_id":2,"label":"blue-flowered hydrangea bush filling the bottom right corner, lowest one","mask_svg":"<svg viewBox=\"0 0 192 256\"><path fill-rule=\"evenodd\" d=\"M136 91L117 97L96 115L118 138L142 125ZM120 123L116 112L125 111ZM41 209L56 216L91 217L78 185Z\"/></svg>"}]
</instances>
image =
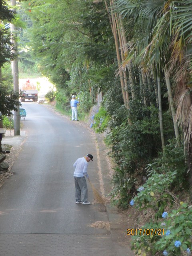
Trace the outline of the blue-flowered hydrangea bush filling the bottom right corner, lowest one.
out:
<instances>
[{"instance_id":1,"label":"blue-flowered hydrangea bush filling the bottom right corner, lowest one","mask_svg":"<svg viewBox=\"0 0 192 256\"><path fill-rule=\"evenodd\" d=\"M138 232L132 237L132 250L141 255L191 255L192 206L181 202L179 209L163 212L161 215L162 218L158 221L147 223L142 227L142 230L154 230L150 235ZM160 230L160 235L154 235L155 230Z\"/></svg>"}]
</instances>

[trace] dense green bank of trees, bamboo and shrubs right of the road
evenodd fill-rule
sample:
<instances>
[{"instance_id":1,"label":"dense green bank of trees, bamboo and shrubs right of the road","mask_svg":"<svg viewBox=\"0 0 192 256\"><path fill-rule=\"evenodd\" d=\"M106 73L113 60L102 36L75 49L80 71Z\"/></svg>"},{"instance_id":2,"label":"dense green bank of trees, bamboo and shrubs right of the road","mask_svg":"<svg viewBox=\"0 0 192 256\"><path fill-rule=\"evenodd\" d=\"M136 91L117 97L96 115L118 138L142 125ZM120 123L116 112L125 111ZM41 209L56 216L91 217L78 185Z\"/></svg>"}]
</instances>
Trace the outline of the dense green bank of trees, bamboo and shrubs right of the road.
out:
<instances>
[{"instance_id":1,"label":"dense green bank of trees, bamboo and shrubs right of the road","mask_svg":"<svg viewBox=\"0 0 192 256\"><path fill-rule=\"evenodd\" d=\"M143 229L165 233L137 234L133 249L189 255L192 1L31 0L24 9L26 56L55 84L57 105L76 94L88 113L103 94L92 128L107 133L116 164L112 201L150 211Z\"/></svg>"}]
</instances>

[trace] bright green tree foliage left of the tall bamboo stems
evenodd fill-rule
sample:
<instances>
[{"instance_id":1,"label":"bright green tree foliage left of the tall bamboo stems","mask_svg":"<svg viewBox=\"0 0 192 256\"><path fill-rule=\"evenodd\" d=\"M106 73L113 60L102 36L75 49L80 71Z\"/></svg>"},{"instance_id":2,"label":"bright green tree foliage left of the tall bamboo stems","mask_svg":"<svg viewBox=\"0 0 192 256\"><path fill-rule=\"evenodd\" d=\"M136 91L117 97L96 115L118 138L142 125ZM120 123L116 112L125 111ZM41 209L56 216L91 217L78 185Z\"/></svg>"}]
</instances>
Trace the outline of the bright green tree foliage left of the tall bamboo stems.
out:
<instances>
[{"instance_id":1,"label":"bright green tree foliage left of the tall bamboo stems","mask_svg":"<svg viewBox=\"0 0 192 256\"><path fill-rule=\"evenodd\" d=\"M41 72L58 90L65 90L68 100L72 94L86 98L84 92L91 90L94 103L97 88L104 88L99 79L102 69L114 62L104 3L37 0L30 1L30 10L32 49L40 59ZM84 103L81 106L88 111L92 103L83 106Z\"/></svg>"}]
</instances>

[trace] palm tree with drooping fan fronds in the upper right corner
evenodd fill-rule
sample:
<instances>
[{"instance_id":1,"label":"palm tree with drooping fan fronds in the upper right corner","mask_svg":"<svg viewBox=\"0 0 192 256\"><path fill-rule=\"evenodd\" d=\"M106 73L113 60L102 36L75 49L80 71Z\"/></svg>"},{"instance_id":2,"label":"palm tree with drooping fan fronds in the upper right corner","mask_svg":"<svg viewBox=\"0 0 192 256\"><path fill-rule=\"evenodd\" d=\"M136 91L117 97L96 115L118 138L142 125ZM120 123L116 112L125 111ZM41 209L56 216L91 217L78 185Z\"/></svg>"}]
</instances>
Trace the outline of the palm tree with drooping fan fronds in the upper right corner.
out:
<instances>
[{"instance_id":1,"label":"palm tree with drooping fan fronds in the upper right corner","mask_svg":"<svg viewBox=\"0 0 192 256\"><path fill-rule=\"evenodd\" d=\"M192 0L117 0L116 5L128 20L127 32L132 35L130 52L121 68L132 60L140 64L143 78L145 73L155 74L156 66L158 74L164 73L175 136L179 136L178 121L184 132L192 183ZM170 78L176 85L174 97ZM158 78L160 94L159 82Z\"/></svg>"}]
</instances>

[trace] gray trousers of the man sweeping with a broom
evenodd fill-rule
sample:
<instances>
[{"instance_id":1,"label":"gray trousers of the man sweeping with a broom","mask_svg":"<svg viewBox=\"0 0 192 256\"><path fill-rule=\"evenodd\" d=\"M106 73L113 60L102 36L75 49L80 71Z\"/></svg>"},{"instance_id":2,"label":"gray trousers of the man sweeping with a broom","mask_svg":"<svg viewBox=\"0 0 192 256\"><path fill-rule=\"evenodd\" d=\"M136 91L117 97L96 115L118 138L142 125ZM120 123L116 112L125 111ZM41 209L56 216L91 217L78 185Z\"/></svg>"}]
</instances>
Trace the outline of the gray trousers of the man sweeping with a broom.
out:
<instances>
[{"instance_id":1,"label":"gray trousers of the man sweeping with a broom","mask_svg":"<svg viewBox=\"0 0 192 256\"><path fill-rule=\"evenodd\" d=\"M85 177L74 177L75 180L75 200L87 201L87 182Z\"/></svg>"}]
</instances>

